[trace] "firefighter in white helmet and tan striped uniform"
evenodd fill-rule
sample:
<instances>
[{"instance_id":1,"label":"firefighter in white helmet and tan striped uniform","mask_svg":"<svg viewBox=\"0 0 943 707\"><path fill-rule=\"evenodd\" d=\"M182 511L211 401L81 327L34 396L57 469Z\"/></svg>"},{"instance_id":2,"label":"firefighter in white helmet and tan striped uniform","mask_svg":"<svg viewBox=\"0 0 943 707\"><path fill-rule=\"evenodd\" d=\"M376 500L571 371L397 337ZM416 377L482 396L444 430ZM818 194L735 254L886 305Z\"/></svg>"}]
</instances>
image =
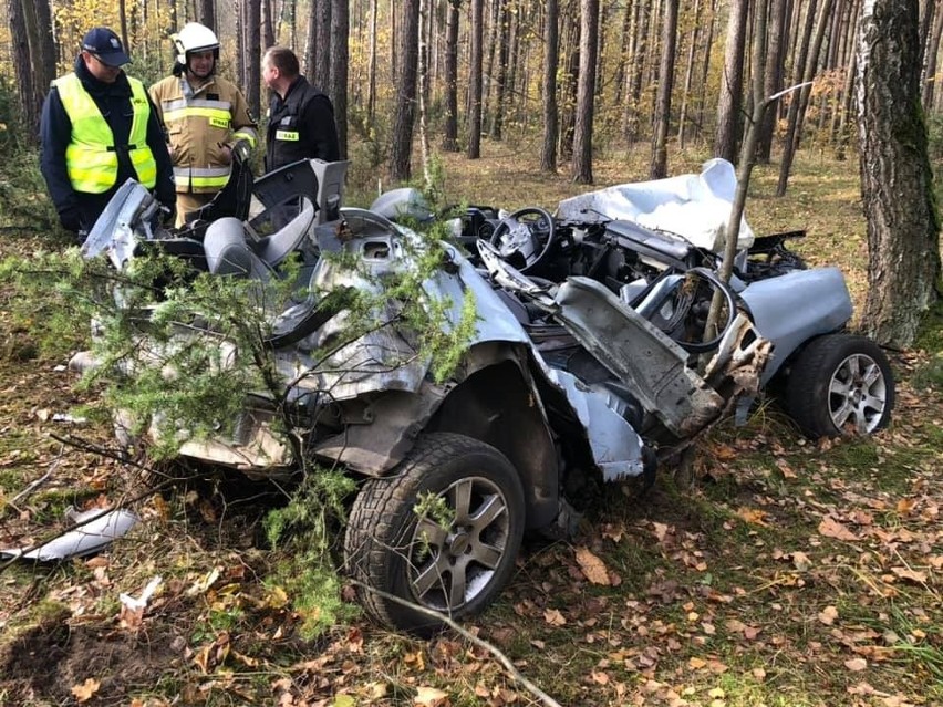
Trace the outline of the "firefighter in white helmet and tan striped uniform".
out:
<instances>
[{"instance_id":1,"label":"firefighter in white helmet and tan striped uniform","mask_svg":"<svg viewBox=\"0 0 943 707\"><path fill-rule=\"evenodd\" d=\"M248 153L258 141L242 92L214 75L219 39L208 27L188 22L173 37L173 75L151 86L167 128L177 188L177 226L208 204L229 179L232 150ZM239 144L243 143L242 146Z\"/></svg>"}]
</instances>

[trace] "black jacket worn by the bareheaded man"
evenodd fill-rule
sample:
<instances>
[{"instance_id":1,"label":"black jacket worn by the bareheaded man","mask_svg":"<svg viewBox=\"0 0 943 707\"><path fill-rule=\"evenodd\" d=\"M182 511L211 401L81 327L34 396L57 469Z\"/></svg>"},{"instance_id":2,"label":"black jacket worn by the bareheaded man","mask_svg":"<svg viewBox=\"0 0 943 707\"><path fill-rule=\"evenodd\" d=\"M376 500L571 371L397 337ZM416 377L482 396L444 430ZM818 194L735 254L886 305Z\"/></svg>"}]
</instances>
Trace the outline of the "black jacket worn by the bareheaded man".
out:
<instances>
[{"instance_id":1,"label":"black jacket worn by the bareheaded man","mask_svg":"<svg viewBox=\"0 0 943 707\"><path fill-rule=\"evenodd\" d=\"M266 138L266 171L299 159L340 159L334 107L304 76L296 79L283 100L272 94Z\"/></svg>"}]
</instances>

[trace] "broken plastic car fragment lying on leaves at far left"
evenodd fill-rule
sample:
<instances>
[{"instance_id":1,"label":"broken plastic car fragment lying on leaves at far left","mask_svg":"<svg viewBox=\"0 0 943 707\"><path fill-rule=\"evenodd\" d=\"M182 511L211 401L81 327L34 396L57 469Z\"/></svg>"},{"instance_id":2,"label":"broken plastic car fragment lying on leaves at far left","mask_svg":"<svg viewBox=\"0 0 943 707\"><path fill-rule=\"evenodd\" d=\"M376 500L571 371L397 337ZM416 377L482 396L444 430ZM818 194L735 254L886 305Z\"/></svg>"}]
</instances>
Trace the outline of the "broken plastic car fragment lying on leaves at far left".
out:
<instances>
[{"instance_id":1,"label":"broken plastic car fragment lying on leaves at far left","mask_svg":"<svg viewBox=\"0 0 943 707\"><path fill-rule=\"evenodd\" d=\"M141 520L136 513L124 508L113 511L96 508L81 513L70 509L66 518L82 524L33 550L24 551L21 548L0 550L0 557L41 562L82 558L124 537Z\"/></svg>"}]
</instances>

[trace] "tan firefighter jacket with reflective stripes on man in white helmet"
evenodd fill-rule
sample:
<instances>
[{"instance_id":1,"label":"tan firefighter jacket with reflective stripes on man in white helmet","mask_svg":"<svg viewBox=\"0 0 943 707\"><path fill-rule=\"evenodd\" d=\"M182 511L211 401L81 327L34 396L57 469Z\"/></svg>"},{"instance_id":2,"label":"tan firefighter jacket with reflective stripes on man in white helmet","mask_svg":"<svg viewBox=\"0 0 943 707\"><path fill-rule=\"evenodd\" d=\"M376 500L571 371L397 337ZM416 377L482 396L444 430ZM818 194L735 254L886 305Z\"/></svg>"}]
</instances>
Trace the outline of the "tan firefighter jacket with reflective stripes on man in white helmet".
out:
<instances>
[{"instance_id":1,"label":"tan firefighter jacket with reflective stripes on man in white helmet","mask_svg":"<svg viewBox=\"0 0 943 707\"><path fill-rule=\"evenodd\" d=\"M167 76L151 86L151 97L167 129L177 191L219 191L229 179L224 147L258 142L242 93L221 76L196 90L185 76Z\"/></svg>"}]
</instances>

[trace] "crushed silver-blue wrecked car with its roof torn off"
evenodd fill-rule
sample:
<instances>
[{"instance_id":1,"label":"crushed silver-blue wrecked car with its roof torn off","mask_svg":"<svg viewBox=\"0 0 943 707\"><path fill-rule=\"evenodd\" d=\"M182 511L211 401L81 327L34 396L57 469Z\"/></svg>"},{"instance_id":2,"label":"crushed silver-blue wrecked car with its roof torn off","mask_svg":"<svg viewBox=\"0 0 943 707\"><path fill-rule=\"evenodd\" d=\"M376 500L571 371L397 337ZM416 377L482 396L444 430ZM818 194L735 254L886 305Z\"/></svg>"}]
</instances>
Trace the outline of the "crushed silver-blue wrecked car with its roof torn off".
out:
<instances>
[{"instance_id":1,"label":"crushed silver-blue wrecked car with its roof torn off","mask_svg":"<svg viewBox=\"0 0 943 707\"><path fill-rule=\"evenodd\" d=\"M156 243L197 271L262 284L289 259L300 263L290 277L303 281L301 293L269 303L279 395L247 392L231 434L184 438L178 454L255 477L304 461L355 477L344 566L367 612L388 625L423 632L436 616L480 612L508 581L526 531L567 531L602 484L650 481L660 459L725 415L745 415L774 377L788 380L790 409L812 435L888 423L891 372L879 347L842 331L851 301L841 273L805 269L781 239L757 239L753 250L744 242L726 283L723 233L709 243L676 233L696 204L675 214L671 233L639 214L623 218L613 194L564 201L556 215L469 211L459 242L441 245L441 267L422 283L446 326L474 301L448 375L438 380L417 355L395 299L345 341L349 312L325 305L329 293L382 289L386 273L413 267L417 235L397 222L411 194L342 206L343 169L311 160L259 179L263 214L292 204L265 236L258 220L232 216L198 233L164 231L156 202L128 183L84 253L122 270ZM690 179L723 199L725 171ZM684 211L700 198L692 185L647 183L634 200L654 190L659 205ZM708 331L711 302L718 316ZM187 323L180 336L195 329ZM146 342L146 326L139 336ZM95 364L86 355L73 367Z\"/></svg>"}]
</instances>

